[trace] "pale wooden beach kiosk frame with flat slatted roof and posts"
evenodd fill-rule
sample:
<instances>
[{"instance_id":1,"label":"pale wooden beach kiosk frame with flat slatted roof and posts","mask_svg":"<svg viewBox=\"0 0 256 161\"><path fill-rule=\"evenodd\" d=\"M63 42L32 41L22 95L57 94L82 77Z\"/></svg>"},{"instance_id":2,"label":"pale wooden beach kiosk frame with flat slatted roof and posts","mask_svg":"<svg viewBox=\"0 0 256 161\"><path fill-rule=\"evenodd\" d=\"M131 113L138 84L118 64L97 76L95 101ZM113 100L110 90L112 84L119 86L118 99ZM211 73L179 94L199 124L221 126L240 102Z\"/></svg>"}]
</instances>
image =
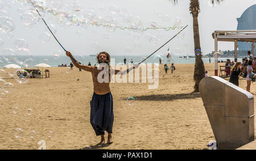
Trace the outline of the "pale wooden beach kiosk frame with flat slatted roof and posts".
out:
<instances>
[{"instance_id":1,"label":"pale wooden beach kiosk frame with flat slatted roof and posts","mask_svg":"<svg viewBox=\"0 0 256 161\"><path fill-rule=\"evenodd\" d=\"M218 41L234 42L234 58L237 58L237 42L251 43L251 54L254 56L256 43L256 30L237 30L237 31L214 31L214 52L218 52ZM214 55L215 76L218 76L218 55Z\"/></svg>"}]
</instances>

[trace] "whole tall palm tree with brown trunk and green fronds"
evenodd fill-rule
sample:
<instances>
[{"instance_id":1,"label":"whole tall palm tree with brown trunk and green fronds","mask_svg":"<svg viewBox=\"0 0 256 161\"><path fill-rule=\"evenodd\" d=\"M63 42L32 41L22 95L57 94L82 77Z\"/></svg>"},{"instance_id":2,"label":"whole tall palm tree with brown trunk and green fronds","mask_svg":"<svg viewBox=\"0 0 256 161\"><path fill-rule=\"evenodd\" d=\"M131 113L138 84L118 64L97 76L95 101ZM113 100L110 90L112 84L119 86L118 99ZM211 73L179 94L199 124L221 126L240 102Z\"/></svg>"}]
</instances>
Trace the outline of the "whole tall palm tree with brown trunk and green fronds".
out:
<instances>
[{"instance_id":1,"label":"whole tall palm tree with brown trunk and green fronds","mask_svg":"<svg viewBox=\"0 0 256 161\"><path fill-rule=\"evenodd\" d=\"M169 0L172 1L174 4L178 2L178 0ZM221 1L224 0L210 0L210 3L213 5L216 3L220 3ZM194 33L194 48L200 49L200 36L199 36L199 24L198 24L198 14L200 12L200 3L199 0L190 0L189 4L189 11L190 14L193 16L193 33ZM202 60L202 55L201 53L199 56L196 58L196 63L195 63L195 71L194 71L194 81L195 81L195 86L194 90L195 92L199 92L199 83L201 79L204 78L205 75L205 69L204 69L204 62Z\"/></svg>"}]
</instances>

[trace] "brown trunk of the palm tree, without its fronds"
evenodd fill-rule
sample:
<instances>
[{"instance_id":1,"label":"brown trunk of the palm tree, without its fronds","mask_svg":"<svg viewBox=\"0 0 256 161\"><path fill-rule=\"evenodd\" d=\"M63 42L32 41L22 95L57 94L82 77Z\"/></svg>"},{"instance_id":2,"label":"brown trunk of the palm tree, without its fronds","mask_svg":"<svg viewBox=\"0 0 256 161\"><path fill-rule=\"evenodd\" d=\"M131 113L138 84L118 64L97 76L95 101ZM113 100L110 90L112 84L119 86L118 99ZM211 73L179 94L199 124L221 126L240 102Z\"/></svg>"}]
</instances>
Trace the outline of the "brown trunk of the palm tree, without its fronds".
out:
<instances>
[{"instance_id":1,"label":"brown trunk of the palm tree, without its fronds","mask_svg":"<svg viewBox=\"0 0 256 161\"><path fill-rule=\"evenodd\" d=\"M200 49L200 37L199 37L199 24L198 24L198 14L192 14L193 15L193 32L194 32L194 45L195 50ZM195 86L194 90L195 92L199 92L199 83L201 79L203 79L205 76L205 69L204 69L204 62L201 57L201 53L199 56L196 56L196 63L195 63L195 71L194 71L194 80L195 80Z\"/></svg>"}]
</instances>

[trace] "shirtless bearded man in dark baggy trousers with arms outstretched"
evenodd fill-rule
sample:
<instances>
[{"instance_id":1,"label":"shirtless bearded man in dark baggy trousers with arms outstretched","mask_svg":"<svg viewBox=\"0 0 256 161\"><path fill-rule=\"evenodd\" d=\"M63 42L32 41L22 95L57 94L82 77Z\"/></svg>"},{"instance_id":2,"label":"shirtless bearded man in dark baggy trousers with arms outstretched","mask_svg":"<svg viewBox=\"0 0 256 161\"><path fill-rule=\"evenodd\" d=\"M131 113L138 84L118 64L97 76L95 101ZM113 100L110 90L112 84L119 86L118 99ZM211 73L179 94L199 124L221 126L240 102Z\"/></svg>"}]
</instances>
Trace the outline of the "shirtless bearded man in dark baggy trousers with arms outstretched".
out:
<instances>
[{"instance_id":1,"label":"shirtless bearded man in dark baggy trousers with arms outstretched","mask_svg":"<svg viewBox=\"0 0 256 161\"><path fill-rule=\"evenodd\" d=\"M68 57L73 57L70 52L66 52ZM89 71L92 73L93 79L93 97L90 101L90 123L96 133L96 135L101 135L101 142L97 145L103 145L105 143L105 130L108 132L108 144L113 143L112 139L112 128L113 128L113 121L114 121L114 113L113 113L113 98L110 92L110 78L111 78L111 71L110 69L110 55L106 52L101 52L97 55L97 61L100 64L99 69L97 66L86 66L77 63L77 61L71 58L73 64L80 69L85 71ZM108 67L106 67L108 66ZM106 67L106 69L104 69ZM136 63L130 69L126 71L114 70L113 73L115 74L126 74L129 71L133 70L134 68L139 67L138 63ZM110 70L107 70L110 69ZM100 83L101 81L98 80L98 74L101 71L105 70L109 73L109 79L106 82ZM100 82L99 82L100 81Z\"/></svg>"}]
</instances>

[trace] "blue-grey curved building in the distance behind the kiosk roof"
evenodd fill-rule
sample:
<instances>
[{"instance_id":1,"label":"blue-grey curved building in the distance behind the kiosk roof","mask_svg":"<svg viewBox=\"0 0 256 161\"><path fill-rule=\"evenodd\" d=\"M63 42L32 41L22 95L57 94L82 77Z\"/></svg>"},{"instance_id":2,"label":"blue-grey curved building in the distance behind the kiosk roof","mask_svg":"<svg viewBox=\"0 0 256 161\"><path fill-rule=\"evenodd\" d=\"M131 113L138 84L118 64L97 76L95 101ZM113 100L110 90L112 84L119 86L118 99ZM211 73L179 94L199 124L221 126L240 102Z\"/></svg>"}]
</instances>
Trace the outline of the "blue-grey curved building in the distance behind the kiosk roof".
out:
<instances>
[{"instance_id":1,"label":"blue-grey curved building in the distance behind the kiosk roof","mask_svg":"<svg viewBox=\"0 0 256 161\"><path fill-rule=\"evenodd\" d=\"M255 15L256 5L250 6L248 9L246 9L241 18L237 18L237 30L256 30ZM237 45L242 54L246 54L248 50L251 50L251 43L238 42Z\"/></svg>"}]
</instances>

